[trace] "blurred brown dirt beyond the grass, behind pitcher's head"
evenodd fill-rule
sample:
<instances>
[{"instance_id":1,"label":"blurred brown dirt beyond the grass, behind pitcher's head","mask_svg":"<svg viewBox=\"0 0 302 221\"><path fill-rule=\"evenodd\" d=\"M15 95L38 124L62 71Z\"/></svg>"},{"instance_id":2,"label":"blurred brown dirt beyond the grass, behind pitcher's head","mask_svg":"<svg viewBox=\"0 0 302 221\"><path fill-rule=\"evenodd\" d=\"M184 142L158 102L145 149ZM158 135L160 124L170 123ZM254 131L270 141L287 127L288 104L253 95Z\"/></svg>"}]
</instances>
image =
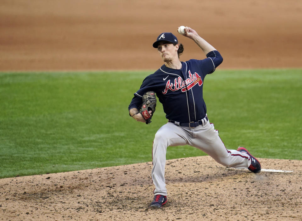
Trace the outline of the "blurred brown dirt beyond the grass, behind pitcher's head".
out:
<instances>
[{"instance_id":1,"label":"blurred brown dirt beyond the grass, behind pitcher's head","mask_svg":"<svg viewBox=\"0 0 302 221\"><path fill-rule=\"evenodd\" d=\"M161 32L186 25L224 58L219 68L301 68L302 1L2 0L0 71L152 69Z\"/></svg>"}]
</instances>

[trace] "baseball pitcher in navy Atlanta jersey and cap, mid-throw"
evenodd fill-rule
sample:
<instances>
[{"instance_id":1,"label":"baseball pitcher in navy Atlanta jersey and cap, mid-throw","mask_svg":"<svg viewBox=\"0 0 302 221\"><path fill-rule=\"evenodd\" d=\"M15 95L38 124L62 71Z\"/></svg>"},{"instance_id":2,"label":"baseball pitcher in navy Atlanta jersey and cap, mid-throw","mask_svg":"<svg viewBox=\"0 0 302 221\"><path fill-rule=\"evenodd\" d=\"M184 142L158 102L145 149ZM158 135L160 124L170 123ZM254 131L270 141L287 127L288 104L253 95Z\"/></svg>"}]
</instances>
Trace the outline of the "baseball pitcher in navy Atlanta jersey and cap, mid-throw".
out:
<instances>
[{"instance_id":1,"label":"baseball pitcher in navy Atlanta jersey and cap, mid-throw","mask_svg":"<svg viewBox=\"0 0 302 221\"><path fill-rule=\"evenodd\" d=\"M156 94L168 119L168 123L156 132L153 142L151 176L155 189L150 207L154 208L162 208L167 202L165 162L168 146L188 144L204 151L224 166L248 168L254 173L261 170L259 161L244 147L226 149L218 131L209 122L203 99L204 78L212 74L223 59L195 30L190 27L184 27L183 30L183 36L192 39L206 58L180 61L183 45L172 33L161 33L153 47L157 48L164 64L143 80L129 105L132 118L149 124L155 111Z\"/></svg>"}]
</instances>

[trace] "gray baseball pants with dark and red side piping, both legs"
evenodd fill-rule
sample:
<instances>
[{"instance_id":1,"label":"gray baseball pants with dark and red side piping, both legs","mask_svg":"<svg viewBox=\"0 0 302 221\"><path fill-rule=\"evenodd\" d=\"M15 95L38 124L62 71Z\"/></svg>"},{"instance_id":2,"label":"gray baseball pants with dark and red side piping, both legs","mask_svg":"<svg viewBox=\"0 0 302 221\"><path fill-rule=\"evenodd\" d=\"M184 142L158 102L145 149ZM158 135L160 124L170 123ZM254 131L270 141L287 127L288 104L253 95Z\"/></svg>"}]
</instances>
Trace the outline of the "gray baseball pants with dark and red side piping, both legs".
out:
<instances>
[{"instance_id":1,"label":"gray baseball pants with dark and red side piping, both legs","mask_svg":"<svg viewBox=\"0 0 302 221\"><path fill-rule=\"evenodd\" d=\"M182 145L199 148L224 166L244 169L251 164L248 154L226 149L218 131L214 129L214 124L210 124L209 121L194 128L167 123L159 128L153 141L151 177L155 185L154 195L167 196L165 187L167 147Z\"/></svg>"}]
</instances>

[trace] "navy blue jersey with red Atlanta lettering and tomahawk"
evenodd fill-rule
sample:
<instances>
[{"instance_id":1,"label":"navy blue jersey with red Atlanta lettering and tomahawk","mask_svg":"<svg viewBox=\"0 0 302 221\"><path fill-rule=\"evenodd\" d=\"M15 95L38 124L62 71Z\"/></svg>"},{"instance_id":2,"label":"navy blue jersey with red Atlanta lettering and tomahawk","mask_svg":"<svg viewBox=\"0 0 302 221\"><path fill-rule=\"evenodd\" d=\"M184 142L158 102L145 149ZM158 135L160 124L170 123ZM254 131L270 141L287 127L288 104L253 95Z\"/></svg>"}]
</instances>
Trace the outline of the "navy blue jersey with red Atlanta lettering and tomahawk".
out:
<instances>
[{"instance_id":1,"label":"navy blue jersey with red Atlanta lettering and tomahawk","mask_svg":"<svg viewBox=\"0 0 302 221\"><path fill-rule=\"evenodd\" d=\"M143 103L143 94L154 91L163 104L167 119L181 123L203 119L207 112L202 92L204 77L213 73L221 62L220 53L211 51L203 60L181 62L182 69L161 66L143 80L140 89L134 93L129 110L138 109Z\"/></svg>"}]
</instances>

